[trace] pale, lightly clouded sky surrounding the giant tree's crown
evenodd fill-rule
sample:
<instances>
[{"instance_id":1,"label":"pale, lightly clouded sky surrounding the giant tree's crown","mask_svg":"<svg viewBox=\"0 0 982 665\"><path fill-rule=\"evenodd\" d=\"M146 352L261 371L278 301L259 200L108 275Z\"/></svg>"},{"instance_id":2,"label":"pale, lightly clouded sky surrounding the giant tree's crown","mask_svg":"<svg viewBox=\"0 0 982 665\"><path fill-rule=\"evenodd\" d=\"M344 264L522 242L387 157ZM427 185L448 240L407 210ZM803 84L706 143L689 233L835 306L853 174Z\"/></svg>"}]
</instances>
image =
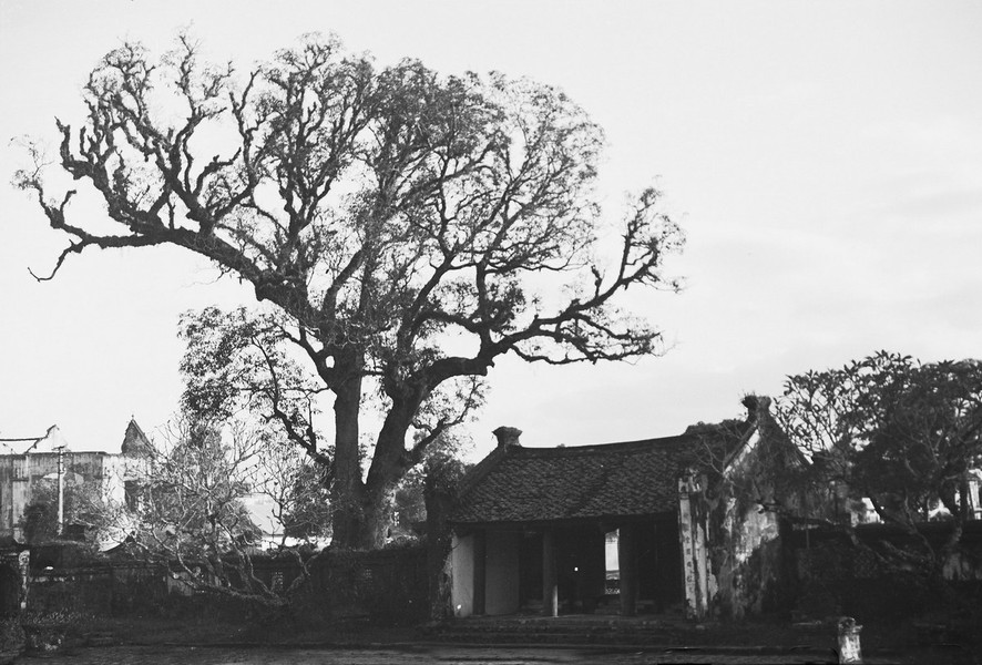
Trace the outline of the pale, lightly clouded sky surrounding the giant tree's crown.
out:
<instances>
[{"instance_id":1,"label":"pale, lightly clouded sky surrounding the giant tree's crown","mask_svg":"<svg viewBox=\"0 0 982 665\"><path fill-rule=\"evenodd\" d=\"M55 145L103 53L161 53L182 29L242 68L319 31L381 65L556 85L605 131L612 223L625 193L664 192L686 286L624 303L666 352L502 359L469 424L477 457L501 424L526 446L679 433L879 349L982 357L982 3L0 0L0 438L57 423L73 449L113 452L131 417L154 436L181 393L180 314L253 300L174 248L28 273L67 238L7 184L27 164L18 137Z\"/></svg>"}]
</instances>

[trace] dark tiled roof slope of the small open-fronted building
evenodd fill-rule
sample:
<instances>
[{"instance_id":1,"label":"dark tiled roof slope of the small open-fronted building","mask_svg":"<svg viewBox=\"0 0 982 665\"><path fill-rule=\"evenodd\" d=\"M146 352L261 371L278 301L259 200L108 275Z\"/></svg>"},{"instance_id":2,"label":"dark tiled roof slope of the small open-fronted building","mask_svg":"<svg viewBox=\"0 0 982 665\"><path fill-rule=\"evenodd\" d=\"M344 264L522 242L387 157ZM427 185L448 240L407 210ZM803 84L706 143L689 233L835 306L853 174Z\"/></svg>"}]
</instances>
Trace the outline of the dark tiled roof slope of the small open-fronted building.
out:
<instances>
[{"instance_id":1,"label":"dark tiled roof slope of the small open-fronted building","mask_svg":"<svg viewBox=\"0 0 982 665\"><path fill-rule=\"evenodd\" d=\"M575 448L498 448L464 479L451 521L535 522L674 511L683 469L706 467L710 458L722 459L719 452L708 453L706 438L696 434Z\"/></svg>"}]
</instances>

